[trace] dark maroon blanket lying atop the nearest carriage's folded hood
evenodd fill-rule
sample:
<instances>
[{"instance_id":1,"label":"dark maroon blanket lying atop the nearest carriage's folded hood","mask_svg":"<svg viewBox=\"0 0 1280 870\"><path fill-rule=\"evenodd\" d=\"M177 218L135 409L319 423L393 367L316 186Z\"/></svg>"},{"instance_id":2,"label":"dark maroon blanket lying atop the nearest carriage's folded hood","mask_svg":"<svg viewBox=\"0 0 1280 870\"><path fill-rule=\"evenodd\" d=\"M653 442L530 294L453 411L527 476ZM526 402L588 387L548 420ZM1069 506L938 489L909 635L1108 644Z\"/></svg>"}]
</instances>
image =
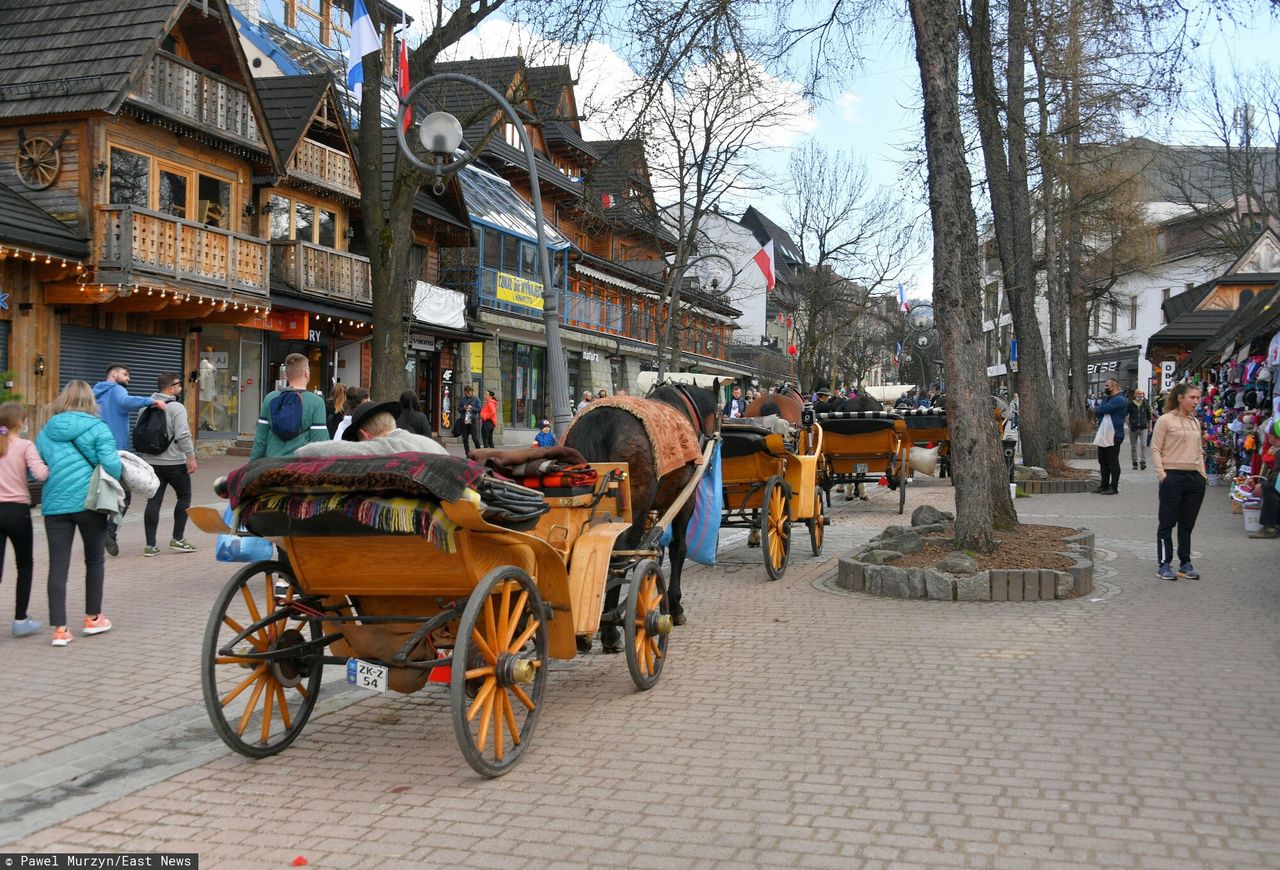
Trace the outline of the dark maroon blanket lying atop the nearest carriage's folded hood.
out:
<instances>
[{"instance_id":1,"label":"dark maroon blanket lying atop the nearest carriage's folded hood","mask_svg":"<svg viewBox=\"0 0 1280 870\"><path fill-rule=\"evenodd\" d=\"M484 468L457 457L393 453L381 457L278 457L255 459L227 476L233 508L266 493L360 493L457 502Z\"/></svg>"}]
</instances>

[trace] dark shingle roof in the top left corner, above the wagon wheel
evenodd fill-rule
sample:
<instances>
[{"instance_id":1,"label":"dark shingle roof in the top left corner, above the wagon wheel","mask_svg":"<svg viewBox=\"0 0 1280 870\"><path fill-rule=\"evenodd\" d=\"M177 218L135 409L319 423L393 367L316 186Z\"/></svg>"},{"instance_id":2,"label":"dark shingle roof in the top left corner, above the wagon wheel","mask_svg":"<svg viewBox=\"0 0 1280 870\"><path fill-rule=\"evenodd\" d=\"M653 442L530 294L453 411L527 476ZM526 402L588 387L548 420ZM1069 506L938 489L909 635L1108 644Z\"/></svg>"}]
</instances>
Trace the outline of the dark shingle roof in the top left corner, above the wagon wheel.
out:
<instances>
[{"instance_id":1,"label":"dark shingle roof in the top left corner, above the wagon wheel","mask_svg":"<svg viewBox=\"0 0 1280 870\"><path fill-rule=\"evenodd\" d=\"M179 0L0 0L0 118L114 113Z\"/></svg>"}]
</instances>

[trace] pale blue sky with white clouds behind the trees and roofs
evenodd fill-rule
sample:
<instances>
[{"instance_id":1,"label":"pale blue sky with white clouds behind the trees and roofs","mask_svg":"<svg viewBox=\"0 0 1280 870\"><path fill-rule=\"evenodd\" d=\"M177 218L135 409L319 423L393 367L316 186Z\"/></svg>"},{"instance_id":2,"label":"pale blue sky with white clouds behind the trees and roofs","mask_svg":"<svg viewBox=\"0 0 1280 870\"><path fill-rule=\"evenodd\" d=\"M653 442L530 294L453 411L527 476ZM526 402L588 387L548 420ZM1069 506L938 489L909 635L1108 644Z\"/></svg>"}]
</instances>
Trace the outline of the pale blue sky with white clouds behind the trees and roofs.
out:
<instances>
[{"instance_id":1,"label":"pale blue sky with white clouds behind the trees and roofs","mask_svg":"<svg viewBox=\"0 0 1280 870\"><path fill-rule=\"evenodd\" d=\"M419 3L422 0L406 4L411 14ZM1196 8L1194 3L1192 5ZM1276 15L1270 13L1266 0L1249 0L1236 18L1233 22L1201 14L1196 23L1198 46L1190 51L1192 67L1248 69L1270 61L1268 52L1274 52L1274 46L1280 44L1280 24ZM769 87L788 99L794 110L786 123L771 125L769 147L759 152L759 166L765 177L785 178L790 151L809 138L831 151L852 151L865 161L873 183L900 197L904 217L919 220L927 226L928 210L923 189L918 175L908 169L913 161L911 150L918 146L922 132L919 74L905 15L899 20L883 22L865 40L865 45L873 49L861 68L840 90L823 95L818 101L806 101L797 83L769 77ZM500 56L517 50L534 64L557 63L563 55L563 46L540 44L521 26L490 19L468 35L451 56ZM634 79L634 72L611 46L600 42L572 46L570 55L570 63L580 77L576 88L579 107L588 115L582 122L585 138L616 138L626 129L628 119L596 107L608 105L612 97L621 93L627 82ZM1184 81L1194 78L1189 68ZM1188 99L1193 97L1194 93L1188 93ZM1135 122L1132 132L1172 136L1187 143L1201 136L1189 113L1181 113L1158 128L1142 129L1142 123ZM746 202L739 205L745 206ZM781 186L753 193L750 205L786 225ZM919 256L906 269L904 284L908 296L928 298L932 294L931 283L931 257L925 239Z\"/></svg>"}]
</instances>

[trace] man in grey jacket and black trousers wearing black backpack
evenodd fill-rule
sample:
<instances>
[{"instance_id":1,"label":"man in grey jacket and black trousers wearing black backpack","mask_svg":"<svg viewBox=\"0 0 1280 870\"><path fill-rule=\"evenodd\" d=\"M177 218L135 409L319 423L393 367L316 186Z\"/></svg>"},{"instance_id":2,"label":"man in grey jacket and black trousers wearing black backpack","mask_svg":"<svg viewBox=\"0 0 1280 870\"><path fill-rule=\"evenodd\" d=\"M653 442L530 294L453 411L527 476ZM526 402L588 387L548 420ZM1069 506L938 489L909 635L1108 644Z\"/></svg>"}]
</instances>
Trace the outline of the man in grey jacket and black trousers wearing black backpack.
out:
<instances>
[{"instance_id":1,"label":"man in grey jacket and black trousers wearing black backpack","mask_svg":"<svg viewBox=\"0 0 1280 870\"><path fill-rule=\"evenodd\" d=\"M182 393L182 375L168 371L156 379L156 391L151 398L164 403L161 408L148 407L138 415L133 426L133 452L142 457L160 478L160 489L147 500L142 514L147 544L143 557L160 554L156 546L156 528L160 526L160 504L164 491L173 486L178 503L173 508L173 537L169 549L178 553L195 553L196 548L187 542L183 532L187 530L187 508L191 507L191 475L196 471L196 445L191 440L191 427L187 425L187 409L178 400Z\"/></svg>"}]
</instances>

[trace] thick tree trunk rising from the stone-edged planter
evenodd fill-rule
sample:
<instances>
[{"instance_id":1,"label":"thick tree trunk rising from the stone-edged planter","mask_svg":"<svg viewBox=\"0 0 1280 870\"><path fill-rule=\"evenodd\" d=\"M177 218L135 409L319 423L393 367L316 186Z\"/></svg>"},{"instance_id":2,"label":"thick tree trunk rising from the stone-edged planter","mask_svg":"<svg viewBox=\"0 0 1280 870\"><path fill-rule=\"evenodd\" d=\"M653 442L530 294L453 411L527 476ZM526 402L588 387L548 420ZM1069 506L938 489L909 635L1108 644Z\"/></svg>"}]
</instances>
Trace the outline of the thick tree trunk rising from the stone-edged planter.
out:
<instances>
[{"instance_id":1,"label":"thick tree trunk rising from the stone-edged planter","mask_svg":"<svg viewBox=\"0 0 1280 870\"><path fill-rule=\"evenodd\" d=\"M993 528L1018 522L992 438L982 334L978 220L960 123L960 19L948 0L909 0L924 96L933 223L933 304L947 368L947 426L956 484L955 545L989 553Z\"/></svg>"}]
</instances>

